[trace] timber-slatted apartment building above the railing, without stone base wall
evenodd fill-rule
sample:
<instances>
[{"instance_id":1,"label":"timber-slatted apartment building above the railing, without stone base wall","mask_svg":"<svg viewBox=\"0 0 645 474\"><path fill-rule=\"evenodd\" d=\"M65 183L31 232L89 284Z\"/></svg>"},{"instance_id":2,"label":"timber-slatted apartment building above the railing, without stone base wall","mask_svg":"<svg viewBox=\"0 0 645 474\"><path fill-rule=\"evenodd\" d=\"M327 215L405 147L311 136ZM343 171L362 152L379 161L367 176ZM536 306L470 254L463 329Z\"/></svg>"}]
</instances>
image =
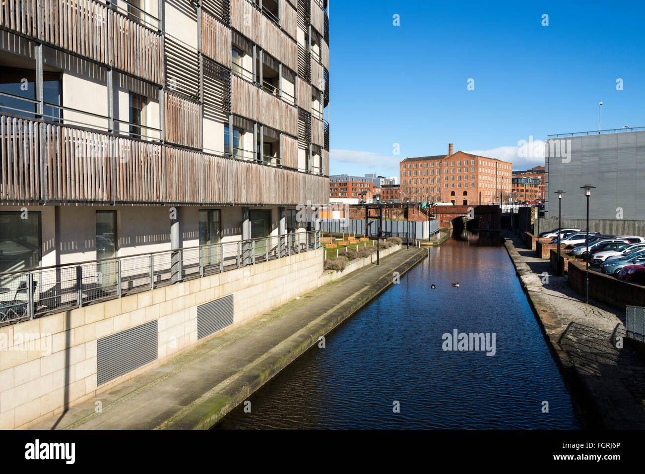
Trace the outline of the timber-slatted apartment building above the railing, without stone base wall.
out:
<instances>
[{"instance_id":1,"label":"timber-slatted apartment building above the railing, without stone base wall","mask_svg":"<svg viewBox=\"0 0 645 474\"><path fill-rule=\"evenodd\" d=\"M6 0L0 28L0 272L295 232L328 202L326 2Z\"/></svg>"}]
</instances>

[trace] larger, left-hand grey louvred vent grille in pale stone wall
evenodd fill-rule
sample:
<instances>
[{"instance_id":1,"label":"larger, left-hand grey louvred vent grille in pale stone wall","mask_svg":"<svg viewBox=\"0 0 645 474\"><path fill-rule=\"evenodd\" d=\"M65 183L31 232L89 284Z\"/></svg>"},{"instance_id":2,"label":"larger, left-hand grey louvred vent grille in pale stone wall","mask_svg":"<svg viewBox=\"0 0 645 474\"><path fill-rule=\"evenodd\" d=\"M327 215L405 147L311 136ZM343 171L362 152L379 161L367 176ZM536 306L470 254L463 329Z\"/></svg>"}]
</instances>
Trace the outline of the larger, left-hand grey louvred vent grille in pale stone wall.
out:
<instances>
[{"instance_id":1,"label":"larger, left-hand grey louvred vent grille in pale stone wall","mask_svg":"<svg viewBox=\"0 0 645 474\"><path fill-rule=\"evenodd\" d=\"M157 321L146 322L96 342L97 385L157 359Z\"/></svg>"}]
</instances>

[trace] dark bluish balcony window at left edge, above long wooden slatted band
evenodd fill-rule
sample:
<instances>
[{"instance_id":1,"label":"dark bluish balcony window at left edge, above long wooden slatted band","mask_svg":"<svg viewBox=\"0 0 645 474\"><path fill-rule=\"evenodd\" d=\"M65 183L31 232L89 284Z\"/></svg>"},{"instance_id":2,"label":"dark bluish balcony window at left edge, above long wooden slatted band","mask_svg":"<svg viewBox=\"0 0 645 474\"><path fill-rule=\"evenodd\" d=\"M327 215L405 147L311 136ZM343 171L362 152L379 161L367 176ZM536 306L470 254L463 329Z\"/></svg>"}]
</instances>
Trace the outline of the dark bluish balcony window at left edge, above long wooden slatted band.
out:
<instances>
[{"instance_id":1,"label":"dark bluish balcony window at left edge, above long wooden slatted band","mask_svg":"<svg viewBox=\"0 0 645 474\"><path fill-rule=\"evenodd\" d=\"M3 66L0 75L0 92L15 95L7 97L0 95L0 112L6 114L26 115L35 118L37 104L25 99L36 99L35 70L7 68ZM43 100L46 103L62 105L63 87L61 75L56 73L43 73ZM45 119L57 121L61 118L61 110L52 106L45 106Z\"/></svg>"}]
</instances>

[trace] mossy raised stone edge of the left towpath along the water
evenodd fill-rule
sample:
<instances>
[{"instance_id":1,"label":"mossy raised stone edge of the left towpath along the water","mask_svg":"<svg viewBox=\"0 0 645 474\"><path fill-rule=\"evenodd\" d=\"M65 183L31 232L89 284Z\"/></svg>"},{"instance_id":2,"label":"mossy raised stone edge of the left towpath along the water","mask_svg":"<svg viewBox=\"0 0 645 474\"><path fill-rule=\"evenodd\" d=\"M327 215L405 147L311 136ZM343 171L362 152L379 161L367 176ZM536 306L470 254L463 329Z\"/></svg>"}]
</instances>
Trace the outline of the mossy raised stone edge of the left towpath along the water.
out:
<instances>
[{"instance_id":1,"label":"mossy raised stone edge of the left towpath along the water","mask_svg":"<svg viewBox=\"0 0 645 474\"><path fill-rule=\"evenodd\" d=\"M393 253L392 255L396 255ZM428 255L427 249L420 249L392 272L404 275ZM159 429L166 430L208 430L237 405L272 379L283 368L318 343L319 338L337 328L366 304L392 286L392 272L386 272L377 280L364 286L350 297L340 301L291 337L274 346L263 356L254 360L233 377L204 393L184 410L161 424ZM351 275L349 276L351 278Z\"/></svg>"}]
</instances>

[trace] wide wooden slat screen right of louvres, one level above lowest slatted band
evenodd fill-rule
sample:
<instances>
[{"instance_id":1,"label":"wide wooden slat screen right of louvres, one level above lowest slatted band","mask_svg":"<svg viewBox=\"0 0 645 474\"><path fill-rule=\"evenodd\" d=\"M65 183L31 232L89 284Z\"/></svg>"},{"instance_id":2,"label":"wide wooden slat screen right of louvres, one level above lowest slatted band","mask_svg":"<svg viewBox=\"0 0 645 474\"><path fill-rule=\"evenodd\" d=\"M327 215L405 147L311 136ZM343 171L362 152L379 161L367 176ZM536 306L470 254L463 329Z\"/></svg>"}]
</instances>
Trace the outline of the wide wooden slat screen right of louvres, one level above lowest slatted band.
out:
<instances>
[{"instance_id":1,"label":"wide wooden slat screen right of louvres, one level above lowest slatted band","mask_svg":"<svg viewBox=\"0 0 645 474\"><path fill-rule=\"evenodd\" d=\"M298 110L273 94L260 90L241 77L232 78L233 114L297 135Z\"/></svg>"}]
</instances>

